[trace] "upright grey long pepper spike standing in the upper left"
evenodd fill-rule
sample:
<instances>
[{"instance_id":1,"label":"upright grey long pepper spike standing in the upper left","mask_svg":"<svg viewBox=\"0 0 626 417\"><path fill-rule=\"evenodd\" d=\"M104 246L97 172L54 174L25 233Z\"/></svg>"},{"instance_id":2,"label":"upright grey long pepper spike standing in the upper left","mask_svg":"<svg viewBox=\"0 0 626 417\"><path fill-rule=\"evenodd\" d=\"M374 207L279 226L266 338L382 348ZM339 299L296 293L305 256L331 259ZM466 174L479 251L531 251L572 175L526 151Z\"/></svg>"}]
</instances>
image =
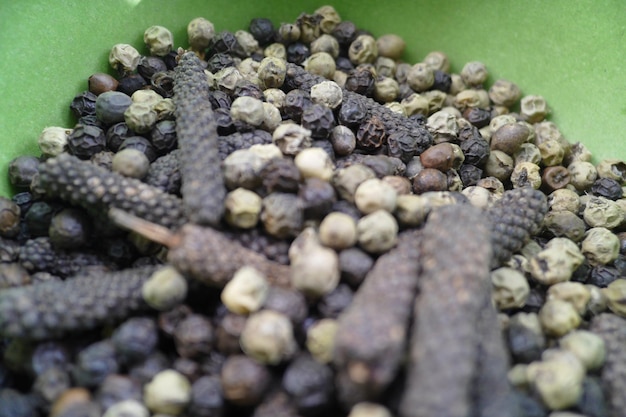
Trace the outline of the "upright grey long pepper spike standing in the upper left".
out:
<instances>
[{"instance_id":1,"label":"upright grey long pepper spike standing in the upper left","mask_svg":"<svg viewBox=\"0 0 626 417\"><path fill-rule=\"evenodd\" d=\"M185 53L176 67L174 102L185 214L192 223L216 225L224 212L226 187L209 86L193 52Z\"/></svg>"}]
</instances>

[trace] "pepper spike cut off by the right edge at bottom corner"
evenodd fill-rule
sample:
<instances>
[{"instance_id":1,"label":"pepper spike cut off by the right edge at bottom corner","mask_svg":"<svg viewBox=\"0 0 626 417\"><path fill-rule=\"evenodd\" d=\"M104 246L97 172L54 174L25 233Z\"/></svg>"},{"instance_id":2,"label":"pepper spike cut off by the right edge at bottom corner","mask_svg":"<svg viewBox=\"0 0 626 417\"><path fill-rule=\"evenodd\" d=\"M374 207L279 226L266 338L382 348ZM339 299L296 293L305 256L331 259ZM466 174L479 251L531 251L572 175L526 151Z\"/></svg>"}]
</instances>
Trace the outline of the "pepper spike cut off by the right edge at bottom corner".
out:
<instances>
[{"instance_id":1,"label":"pepper spike cut off by the right edge at bottom corner","mask_svg":"<svg viewBox=\"0 0 626 417\"><path fill-rule=\"evenodd\" d=\"M591 320L590 330L606 347L601 378L611 416L626 417L626 320L615 314L600 314Z\"/></svg>"}]
</instances>

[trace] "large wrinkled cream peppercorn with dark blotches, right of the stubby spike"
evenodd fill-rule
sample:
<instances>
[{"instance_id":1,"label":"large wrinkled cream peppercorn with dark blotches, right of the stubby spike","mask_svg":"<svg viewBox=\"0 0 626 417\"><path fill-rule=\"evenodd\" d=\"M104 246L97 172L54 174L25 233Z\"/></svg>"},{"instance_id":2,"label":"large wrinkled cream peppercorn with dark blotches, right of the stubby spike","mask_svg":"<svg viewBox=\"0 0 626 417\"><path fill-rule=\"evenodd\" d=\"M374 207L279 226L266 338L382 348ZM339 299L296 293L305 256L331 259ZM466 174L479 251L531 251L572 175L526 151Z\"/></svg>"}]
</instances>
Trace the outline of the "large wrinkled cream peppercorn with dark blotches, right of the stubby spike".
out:
<instances>
[{"instance_id":1,"label":"large wrinkled cream peppercorn with dark blotches, right of the stubby spike","mask_svg":"<svg viewBox=\"0 0 626 417\"><path fill-rule=\"evenodd\" d=\"M566 238L554 238L530 259L530 274L543 285L553 285L569 280L584 259L574 242Z\"/></svg>"}]
</instances>

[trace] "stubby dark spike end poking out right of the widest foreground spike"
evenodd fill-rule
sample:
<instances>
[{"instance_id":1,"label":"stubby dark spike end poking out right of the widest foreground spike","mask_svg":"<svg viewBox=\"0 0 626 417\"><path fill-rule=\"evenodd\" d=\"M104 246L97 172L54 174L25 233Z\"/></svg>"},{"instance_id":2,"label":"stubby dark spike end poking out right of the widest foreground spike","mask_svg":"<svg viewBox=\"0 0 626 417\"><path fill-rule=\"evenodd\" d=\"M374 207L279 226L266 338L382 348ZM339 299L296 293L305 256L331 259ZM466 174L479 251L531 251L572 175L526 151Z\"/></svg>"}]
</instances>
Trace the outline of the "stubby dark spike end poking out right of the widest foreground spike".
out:
<instances>
[{"instance_id":1,"label":"stubby dark spike end poking out right of the widest foreground spike","mask_svg":"<svg viewBox=\"0 0 626 417\"><path fill-rule=\"evenodd\" d=\"M530 187L505 191L487 210L491 221L492 268L506 262L541 227L548 211L546 196Z\"/></svg>"}]
</instances>

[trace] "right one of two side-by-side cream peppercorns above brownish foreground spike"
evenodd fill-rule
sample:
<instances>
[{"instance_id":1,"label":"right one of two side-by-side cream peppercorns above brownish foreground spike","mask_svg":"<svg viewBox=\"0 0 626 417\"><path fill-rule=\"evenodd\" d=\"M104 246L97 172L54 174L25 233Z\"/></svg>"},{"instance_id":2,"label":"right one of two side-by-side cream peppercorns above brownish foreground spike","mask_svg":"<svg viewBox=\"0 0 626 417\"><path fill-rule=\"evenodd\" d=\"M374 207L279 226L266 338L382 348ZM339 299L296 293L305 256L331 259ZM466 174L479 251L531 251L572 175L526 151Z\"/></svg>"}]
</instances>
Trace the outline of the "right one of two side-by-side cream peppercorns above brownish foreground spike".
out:
<instances>
[{"instance_id":1,"label":"right one of two side-by-side cream peppercorns above brownish foreground spike","mask_svg":"<svg viewBox=\"0 0 626 417\"><path fill-rule=\"evenodd\" d=\"M396 245L398 223L386 210L377 210L359 219L359 245L370 253L383 253Z\"/></svg>"}]
</instances>

